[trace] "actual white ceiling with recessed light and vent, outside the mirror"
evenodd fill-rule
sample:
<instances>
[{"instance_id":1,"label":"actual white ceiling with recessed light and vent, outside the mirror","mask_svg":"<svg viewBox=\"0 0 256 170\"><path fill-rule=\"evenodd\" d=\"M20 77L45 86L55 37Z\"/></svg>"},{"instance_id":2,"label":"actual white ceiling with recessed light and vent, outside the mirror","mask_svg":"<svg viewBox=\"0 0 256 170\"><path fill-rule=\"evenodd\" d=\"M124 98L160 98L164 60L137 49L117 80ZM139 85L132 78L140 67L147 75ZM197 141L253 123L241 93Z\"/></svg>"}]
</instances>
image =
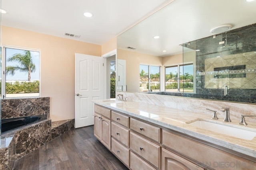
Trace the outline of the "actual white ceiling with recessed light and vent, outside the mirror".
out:
<instances>
[{"instance_id":1,"label":"actual white ceiling with recessed light and vent, outside the mirror","mask_svg":"<svg viewBox=\"0 0 256 170\"><path fill-rule=\"evenodd\" d=\"M102 45L170 0L2 0L2 25ZM92 12L86 18L84 12ZM64 36L64 32L81 35Z\"/></svg>"}]
</instances>

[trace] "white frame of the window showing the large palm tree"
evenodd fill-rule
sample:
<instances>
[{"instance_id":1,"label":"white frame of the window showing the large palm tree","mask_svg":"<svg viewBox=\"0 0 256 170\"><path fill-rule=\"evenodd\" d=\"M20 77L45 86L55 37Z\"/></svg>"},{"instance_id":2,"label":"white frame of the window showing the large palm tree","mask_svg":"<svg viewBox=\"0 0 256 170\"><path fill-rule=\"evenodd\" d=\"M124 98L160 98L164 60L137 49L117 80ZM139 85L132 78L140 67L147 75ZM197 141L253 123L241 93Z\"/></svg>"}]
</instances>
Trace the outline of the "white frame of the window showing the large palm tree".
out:
<instances>
[{"instance_id":1,"label":"white frame of the window showing the large palm tree","mask_svg":"<svg viewBox=\"0 0 256 170\"><path fill-rule=\"evenodd\" d=\"M12 98L40 98L41 96L41 50L28 47L18 47L12 45L1 45L1 96L0 99L12 99ZM39 95L38 96L24 96L24 97L8 97L6 98L6 49L17 49L24 51L39 52Z\"/></svg>"}]
</instances>

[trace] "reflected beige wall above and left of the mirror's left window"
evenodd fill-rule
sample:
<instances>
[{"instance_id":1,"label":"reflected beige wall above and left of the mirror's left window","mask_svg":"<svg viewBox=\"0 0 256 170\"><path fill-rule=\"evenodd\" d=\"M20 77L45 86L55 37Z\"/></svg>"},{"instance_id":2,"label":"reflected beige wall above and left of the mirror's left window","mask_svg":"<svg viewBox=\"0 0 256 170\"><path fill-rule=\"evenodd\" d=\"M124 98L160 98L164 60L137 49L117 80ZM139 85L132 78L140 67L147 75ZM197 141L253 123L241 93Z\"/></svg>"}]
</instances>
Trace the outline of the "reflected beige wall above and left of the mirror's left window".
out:
<instances>
[{"instance_id":1,"label":"reflected beige wall above and left of the mirror's left window","mask_svg":"<svg viewBox=\"0 0 256 170\"><path fill-rule=\"evenodd\" d=\"M140 64L162 66L162 57L117 49L117 58L126 60L127 92L140 92Z\"/></svg>"}]
</instances>

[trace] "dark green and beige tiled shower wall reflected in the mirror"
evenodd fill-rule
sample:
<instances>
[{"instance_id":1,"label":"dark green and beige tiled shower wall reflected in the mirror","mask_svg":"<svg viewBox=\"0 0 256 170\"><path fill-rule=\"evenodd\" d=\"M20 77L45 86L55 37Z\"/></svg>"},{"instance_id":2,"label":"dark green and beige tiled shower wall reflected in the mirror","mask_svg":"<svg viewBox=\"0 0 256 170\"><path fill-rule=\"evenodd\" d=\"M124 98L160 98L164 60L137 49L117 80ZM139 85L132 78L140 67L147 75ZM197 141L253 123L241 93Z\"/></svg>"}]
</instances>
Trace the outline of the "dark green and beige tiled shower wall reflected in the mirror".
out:
<instances>
[{"instance_id":1,"label":"dark green and beige tiled shower wall reflected in the mirror","mask_svg":"<svg viewBox=\"0 0 256 170\"><path fill-rule=\"evenodd\" d=\"M182 96L256 103L255 32L256 24L252 24L185 43L185 49L200 51L191 56L196 57L196 93ZM238 69L239 66L245 68Z\"/></svg>"}]
</instances>

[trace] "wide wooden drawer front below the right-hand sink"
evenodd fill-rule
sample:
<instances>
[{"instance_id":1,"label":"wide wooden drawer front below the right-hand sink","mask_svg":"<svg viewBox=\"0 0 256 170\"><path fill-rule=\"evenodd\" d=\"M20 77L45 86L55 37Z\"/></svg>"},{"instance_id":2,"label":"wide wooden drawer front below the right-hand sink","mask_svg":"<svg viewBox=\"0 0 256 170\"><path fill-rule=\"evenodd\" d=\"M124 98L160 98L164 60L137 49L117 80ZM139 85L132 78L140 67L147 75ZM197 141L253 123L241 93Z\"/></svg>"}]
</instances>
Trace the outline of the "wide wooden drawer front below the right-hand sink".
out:
<instances>
[{"instance_id":1,"label":"wide wooden drawer front below the right-hand sink","mask_svg":"<svg viewBox=\"0 0 256 170\"><path fill-rule=\"evenodd\" d=\"M214 169L221 169L219 166L212 162L238 162L243 166L237 168L243 169L244 167L250 167L256 169L256 164L246 160L244 158L229 154L222 150L210 147L208 145L199 143L192 139L176 135L172 132L162 131L162 144L170 149L174 149L198 162L204 162L205 164L212 166ZM226 168L226 170L232 169L232 167Z\"/></svg>"}]
</instances>

